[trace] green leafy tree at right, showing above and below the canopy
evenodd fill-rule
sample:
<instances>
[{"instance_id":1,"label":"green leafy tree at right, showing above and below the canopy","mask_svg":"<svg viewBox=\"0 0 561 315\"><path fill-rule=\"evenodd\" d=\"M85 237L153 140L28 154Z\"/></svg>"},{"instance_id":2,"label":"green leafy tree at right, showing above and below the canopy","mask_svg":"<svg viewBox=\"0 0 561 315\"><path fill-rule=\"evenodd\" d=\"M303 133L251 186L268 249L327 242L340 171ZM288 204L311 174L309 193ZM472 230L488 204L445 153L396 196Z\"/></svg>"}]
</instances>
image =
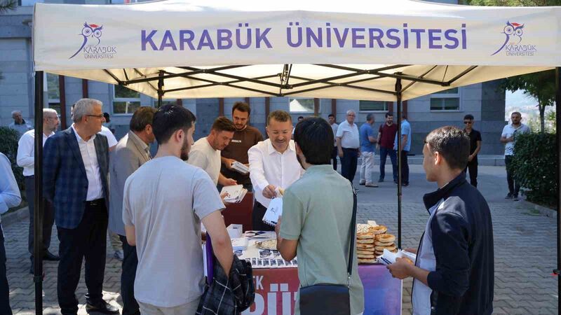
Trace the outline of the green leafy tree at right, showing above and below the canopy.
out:
<instances>
[{"instance_id":1,"label":"green leafy tree at right, showing above and below the canopy","mask_svg":"<svg viewBox=\"0 0 561 315\"><path fill-rule=\"evenodd\" d=\"M561 6L561 0L464 0L471 6ZM503 90L515 92L524 90L538 100L540 131L546 131L546 107L555 101L555 70L541 71L506 78L501 84Z\"/></svg>"}]
</instances>

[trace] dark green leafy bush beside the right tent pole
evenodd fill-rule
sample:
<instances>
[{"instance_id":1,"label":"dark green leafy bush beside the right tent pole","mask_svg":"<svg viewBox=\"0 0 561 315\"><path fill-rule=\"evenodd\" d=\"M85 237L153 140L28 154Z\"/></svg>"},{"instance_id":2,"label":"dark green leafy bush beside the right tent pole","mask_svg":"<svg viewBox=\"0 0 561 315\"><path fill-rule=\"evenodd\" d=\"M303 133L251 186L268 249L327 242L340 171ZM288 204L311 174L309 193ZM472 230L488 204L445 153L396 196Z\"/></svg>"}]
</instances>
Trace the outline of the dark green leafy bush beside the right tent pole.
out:
<instances>
[{"instance_id":1,"label":"dark green leafy bush beside the right tent pole","mask_svg":"<svg viewBox=\"0 0 561 315\"><path fill-rule=\"evenodd\" d=\"M519 134L514 158L515 181L527 200L557 207L557 146L555 134Z\"/></svg>"}]
</instances>

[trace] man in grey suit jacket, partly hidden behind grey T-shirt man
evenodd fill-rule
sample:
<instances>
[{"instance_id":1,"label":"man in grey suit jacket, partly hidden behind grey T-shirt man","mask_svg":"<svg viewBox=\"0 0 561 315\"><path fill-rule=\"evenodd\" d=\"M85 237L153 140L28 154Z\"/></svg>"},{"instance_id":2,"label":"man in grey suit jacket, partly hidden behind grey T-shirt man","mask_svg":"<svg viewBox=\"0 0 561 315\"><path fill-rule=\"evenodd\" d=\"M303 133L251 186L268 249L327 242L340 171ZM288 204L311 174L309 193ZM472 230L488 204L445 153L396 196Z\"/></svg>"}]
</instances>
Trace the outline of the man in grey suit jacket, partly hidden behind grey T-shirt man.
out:
<instances>
[{"instance_id":1,"label":"man in grey suit jacket, partly hidden behind grey T-shirt man","mask_svg":"<svg viewBox=\"0 0 561 315\"><path fill-rule=\"evenodd\" d=\"M142 106L130 119L130 131L111 153L109 176L111 202L109 203L109 230L119 235L123 243L123 269L121 273L121 297L123 315L140 314L135 300L135 274L138 265L136 247L127 243L123 224L123 190L130 174L151 158L149 144L154 142L152 119L156 109Z\"/></svg>"}]
</instances>

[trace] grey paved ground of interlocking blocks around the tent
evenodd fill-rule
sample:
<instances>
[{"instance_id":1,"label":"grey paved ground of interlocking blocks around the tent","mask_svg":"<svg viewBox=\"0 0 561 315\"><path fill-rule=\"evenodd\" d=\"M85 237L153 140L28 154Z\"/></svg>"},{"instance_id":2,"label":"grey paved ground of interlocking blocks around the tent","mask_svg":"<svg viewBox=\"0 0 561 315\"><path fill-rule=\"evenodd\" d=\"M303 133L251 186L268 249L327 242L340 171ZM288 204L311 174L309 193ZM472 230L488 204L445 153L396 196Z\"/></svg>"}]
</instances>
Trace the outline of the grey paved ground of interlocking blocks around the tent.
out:
<instances>
[{"instance_id":1,"label":"grey paved ground of interlocking blocks around the tent","mask_svg":"<svg viewBox=\"0 0 561 315\"><path fill-rule=\"evenodd\" d=\"M391 170L386 171L391 176ZM375 174L377 176L377 174ZM558 314L557 279L551 276L555 267L555 219L536 216L520 203L506 201L503 167L480 168L480 190L489 200L494 223L495 245L495 314ZM376 177L377 178L377 177ZM359 192L359 221L374 219L397 233L396 186L386 182L380 188L363 188ZM411 186L403 195L403 247L417 247L428 214L420 203L423 193L435 188L426 183L420 166L412 166ZM8 255L8 282L14 314L34 314L34 285L29 275L27 221L4 228ZM58 250L53 232L52 250ZM107 248L111 248L108 244ZM111 258L108 249L105 269L104 298L119 305L121 264ZM58 314L56 301L55 262L45 263L43 314ZM411 281L404 282L403 314L411 312ZM76 295L86 314L83 279Z\"/></svg>"}]
</instances>

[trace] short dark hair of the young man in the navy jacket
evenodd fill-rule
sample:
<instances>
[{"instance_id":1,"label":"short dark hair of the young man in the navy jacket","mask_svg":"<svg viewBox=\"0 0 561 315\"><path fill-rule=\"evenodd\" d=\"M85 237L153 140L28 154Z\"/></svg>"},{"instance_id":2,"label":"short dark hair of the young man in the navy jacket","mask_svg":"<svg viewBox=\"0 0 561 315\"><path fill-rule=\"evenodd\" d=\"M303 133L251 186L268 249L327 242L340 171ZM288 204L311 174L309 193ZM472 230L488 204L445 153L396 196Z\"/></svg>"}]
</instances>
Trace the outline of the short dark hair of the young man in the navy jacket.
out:
<instances>
[{"instance_id":1,"label":"short dark hair of the young man in the navy jacket","mask_svg":"<svg viewBox=\"0 0 561 315\"><path fill-rule=\"evenodd\" d=\"M452 169L465 169L469 157L469 137L461 129L440 127L426 136L431 153L438 152Z\"/></svg>"}]
</instances>

